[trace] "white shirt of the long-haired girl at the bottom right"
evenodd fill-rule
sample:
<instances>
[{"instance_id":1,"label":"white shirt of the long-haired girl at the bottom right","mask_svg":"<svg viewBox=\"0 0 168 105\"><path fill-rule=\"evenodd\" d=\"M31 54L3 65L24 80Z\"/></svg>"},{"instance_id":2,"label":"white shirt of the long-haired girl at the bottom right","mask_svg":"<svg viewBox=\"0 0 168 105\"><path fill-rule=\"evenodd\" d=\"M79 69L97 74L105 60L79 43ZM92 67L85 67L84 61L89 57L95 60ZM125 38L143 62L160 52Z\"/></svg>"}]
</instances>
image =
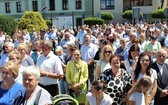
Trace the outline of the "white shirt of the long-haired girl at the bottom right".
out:
<instances>
[{"instance_id":1,"label":"white shirt of the long-haired girl at the bottom right","mask_svg":"<svg viewBox=\"0 0 168 105\"><path fill-rule=\"evenodd\" d=\"M129 100L135 101L135 105L145 105L145 96L140 92L133 92Z\"/></svg>"}]
</instances>

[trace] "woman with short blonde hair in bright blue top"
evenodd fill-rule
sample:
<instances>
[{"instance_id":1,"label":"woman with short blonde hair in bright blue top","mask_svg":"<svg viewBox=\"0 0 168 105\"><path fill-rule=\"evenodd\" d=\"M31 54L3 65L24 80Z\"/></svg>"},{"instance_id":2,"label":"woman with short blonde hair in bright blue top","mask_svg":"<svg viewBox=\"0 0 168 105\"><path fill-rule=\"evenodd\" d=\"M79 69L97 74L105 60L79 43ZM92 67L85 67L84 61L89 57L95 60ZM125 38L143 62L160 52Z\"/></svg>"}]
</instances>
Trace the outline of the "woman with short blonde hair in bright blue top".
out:
<instances>
[{"instance_id":1,"label":"woman with short blonde hair in bright blue top","mask_svg":"<svg viewBox=\"0 0 168 105\"><path fill-rule=\"evenodd\" d=\"M0 105L20 105L21 100L23 100L25 88L20 83L15 82L17 76L17 64L9 61L2 66L3 80L0 82Z\"/></svg>"}]
</instances>

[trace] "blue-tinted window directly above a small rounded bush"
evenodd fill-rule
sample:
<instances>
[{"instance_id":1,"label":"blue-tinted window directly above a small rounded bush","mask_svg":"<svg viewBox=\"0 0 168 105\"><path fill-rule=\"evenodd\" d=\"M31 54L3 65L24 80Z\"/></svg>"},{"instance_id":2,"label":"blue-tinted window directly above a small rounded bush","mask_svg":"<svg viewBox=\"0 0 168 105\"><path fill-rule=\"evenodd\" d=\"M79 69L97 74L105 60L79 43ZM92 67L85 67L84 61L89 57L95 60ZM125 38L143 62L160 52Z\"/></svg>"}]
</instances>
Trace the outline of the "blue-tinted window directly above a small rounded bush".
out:
<instances>
[{"instance_id":1,"label":"blue-tinted window directly above a small rounded bush","mask_svg":"<svg viewBox=\"0 0 168 105\"><path fill-rule=\"evenodd\" d=\"M114 9L114 0L101 0L101 9Z\"/></svg>"}]
</instances>

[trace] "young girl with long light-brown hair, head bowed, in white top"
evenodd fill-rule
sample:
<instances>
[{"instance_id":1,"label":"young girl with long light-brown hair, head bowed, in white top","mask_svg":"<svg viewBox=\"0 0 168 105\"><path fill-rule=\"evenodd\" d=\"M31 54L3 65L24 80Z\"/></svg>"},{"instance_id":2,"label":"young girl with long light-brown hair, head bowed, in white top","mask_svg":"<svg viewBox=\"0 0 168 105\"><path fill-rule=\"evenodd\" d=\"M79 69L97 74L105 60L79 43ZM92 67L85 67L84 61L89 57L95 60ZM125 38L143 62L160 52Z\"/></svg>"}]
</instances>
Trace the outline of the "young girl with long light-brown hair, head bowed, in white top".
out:
<instances>
[{"instance_id":1,"label":"young girl with long light-brown hair, head bowed, in white top","mask_svg":"<svg viewBox=\"0 0 168 105\"><path fill-rule=\"evenodd\" d=\"M130 91L131 95L127 105L148 105L148 93L147 91L152 86L150 77L144 76Z\"/></svg>"}]
</instances>

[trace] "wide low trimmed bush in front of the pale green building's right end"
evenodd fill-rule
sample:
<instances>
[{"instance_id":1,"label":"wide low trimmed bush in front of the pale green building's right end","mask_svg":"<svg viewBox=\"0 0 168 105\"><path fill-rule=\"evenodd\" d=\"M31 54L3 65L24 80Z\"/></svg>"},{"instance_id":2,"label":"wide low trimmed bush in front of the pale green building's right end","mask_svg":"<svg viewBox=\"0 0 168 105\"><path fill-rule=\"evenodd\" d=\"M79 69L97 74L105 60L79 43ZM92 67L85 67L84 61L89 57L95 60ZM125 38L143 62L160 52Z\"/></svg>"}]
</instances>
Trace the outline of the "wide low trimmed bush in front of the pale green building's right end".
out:
<instances>
[{"instance_id":1,"label":"wide low trimmed bush in front of the pale green building's right end","mask_svg":"<svg viewBox=\"0 0 168 105\"><path fill-rule=\"evenodd\" d=\"M92 26L95 24L103 25L104 20L98 17L88 17L84 20L84 24Z\"/></svg>"}]
</instances>

